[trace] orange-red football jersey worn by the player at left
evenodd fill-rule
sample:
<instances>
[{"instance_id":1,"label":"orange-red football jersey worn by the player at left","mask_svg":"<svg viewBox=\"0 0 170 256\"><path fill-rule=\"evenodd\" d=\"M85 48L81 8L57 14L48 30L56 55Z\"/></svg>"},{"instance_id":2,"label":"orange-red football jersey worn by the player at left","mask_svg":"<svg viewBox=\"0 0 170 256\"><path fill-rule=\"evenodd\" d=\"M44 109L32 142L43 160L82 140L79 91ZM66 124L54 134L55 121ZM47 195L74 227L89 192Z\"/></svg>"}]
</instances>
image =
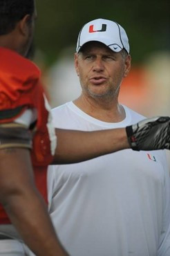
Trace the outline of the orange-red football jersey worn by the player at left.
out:
<instances>
[{"instance_id":1,"label":"orange-red football jersey worn by the player at left","mask_svg":"<svg viewBox=\"0 0 170 256\"><path fill-rule=\"evenodd\" d=\"M12 122L25 109L37 110L30 154L37 188L47 201L46 174L48 165L53 161L56 137L39 68L6 48L0 48L0 63L0 123ZM10 223L10 220L0 205L2 223Z\"/></svg>"}]
</instances>

